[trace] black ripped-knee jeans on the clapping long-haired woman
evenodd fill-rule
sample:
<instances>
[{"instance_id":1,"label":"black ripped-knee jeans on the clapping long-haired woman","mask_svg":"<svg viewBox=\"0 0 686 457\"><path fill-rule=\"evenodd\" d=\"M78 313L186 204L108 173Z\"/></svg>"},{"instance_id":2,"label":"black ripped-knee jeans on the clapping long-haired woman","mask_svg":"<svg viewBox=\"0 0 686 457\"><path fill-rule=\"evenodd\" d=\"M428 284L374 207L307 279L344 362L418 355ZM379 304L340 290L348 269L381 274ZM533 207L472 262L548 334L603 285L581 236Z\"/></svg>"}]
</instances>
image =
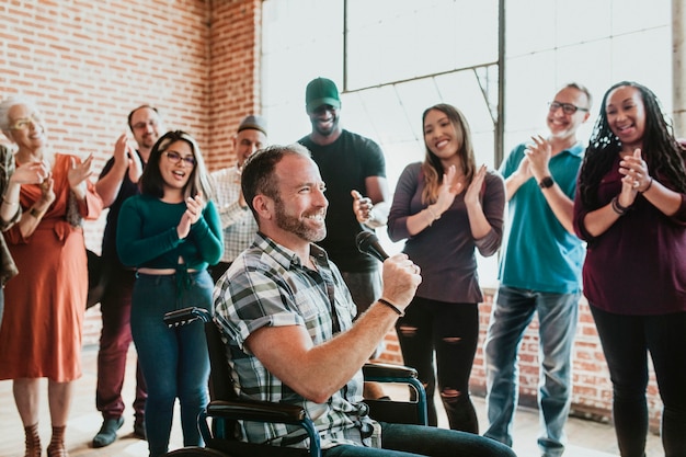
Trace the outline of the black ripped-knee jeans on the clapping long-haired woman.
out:
<instances>
[{"instance_id":1,"label":"black ripped-knee jeans on the clapping long-haired woman","mask_svg":"<svg viewBox=\"0 0 686 457\"><path fill-rule=\"evenodd\" d=\"M477 304L450 304L414 297L396 324L407 366L426 388L428 424L437 425L436 378L450 429L479 433L469 397L469 376L479 342ZM434 352L436 367L434 367Z\"/></svg>"}]
</instances>

